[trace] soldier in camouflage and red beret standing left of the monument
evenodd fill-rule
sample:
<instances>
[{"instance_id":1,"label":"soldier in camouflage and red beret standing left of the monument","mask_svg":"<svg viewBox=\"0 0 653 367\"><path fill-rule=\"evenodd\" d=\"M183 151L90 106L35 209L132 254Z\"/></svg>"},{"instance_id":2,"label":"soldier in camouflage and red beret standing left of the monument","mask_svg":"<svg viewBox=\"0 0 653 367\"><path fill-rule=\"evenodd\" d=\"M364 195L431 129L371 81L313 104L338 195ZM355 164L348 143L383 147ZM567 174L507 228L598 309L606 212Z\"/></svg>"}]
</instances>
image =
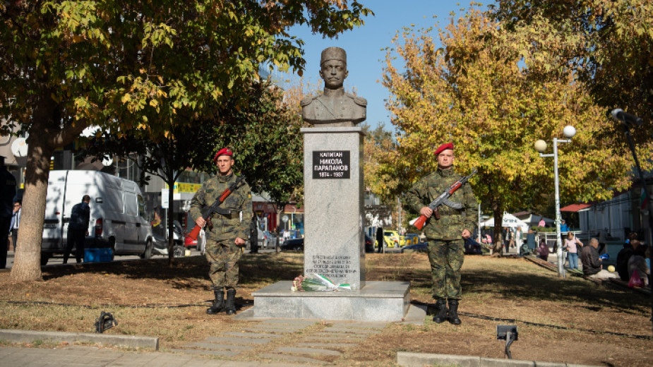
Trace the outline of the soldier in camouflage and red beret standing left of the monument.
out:
<instances>
[{"instance_id":1,"label":"soldier in camouflage and red beret standing left of the monument","mask_svg":"<svg viewBox=\"0 0 653 367\"><path fill-rule=\"evenodd\" d=\"M249 218L252 217L251 191L247 183L236 188L220 207L232 210L230 215L214 213L206 219L202 217L202 209L215 203L224 190L236 181L232 170L233 153L224 148L217 152L213 161L217 164L218 174L206 181L191 200L191 215L196 224L206 231L206 260L210 264L211 278L215 303L206 310L209 315L227 311L227 315L236 313L236 287L238 287L238 261L241 258L241 248L249 234ZM241 220L242 218L245 220ZM212 227L211 227L212 224ZM224 301L224 289L227 289L227 301Z\"/></svg>"}]
</instances>

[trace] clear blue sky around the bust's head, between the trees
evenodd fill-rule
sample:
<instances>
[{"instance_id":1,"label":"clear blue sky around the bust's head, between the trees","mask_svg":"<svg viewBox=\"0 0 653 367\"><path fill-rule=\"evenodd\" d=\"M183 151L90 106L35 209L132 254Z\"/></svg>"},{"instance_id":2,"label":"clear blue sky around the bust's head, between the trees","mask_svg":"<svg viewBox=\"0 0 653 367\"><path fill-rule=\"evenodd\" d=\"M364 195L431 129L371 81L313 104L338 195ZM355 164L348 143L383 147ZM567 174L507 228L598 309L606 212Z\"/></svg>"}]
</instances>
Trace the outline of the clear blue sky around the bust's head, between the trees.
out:
<instances>
[{"instance_id":1,"label":"clear blue sky around the bust's head, between the trees","mask_svg":"<svg viewBox=\"0 0 653 367\"><path fill-rule=\"evenodd\" d=\"M493 1L481 1L492 4ZM345 80L345 89L355 88L357 95L367 100L367 124L376 128L379 123L388 131L394 131L390 124L390 114L385 109L388 90L381 83L383 66L385 64L385 47L392 47L392 39L397 30L403 27L414 29L433 27L437 30L436 22L440 27L448 24L450 13L454 11L456 18L464 12L461 8L469 7L469 0L361 0L370 8L375 16L365 18L365 25L345 32L338 39L323 40L320 35L312 35L308 27L292 29L304 44L304 57L306 58L306 71L304 78L308 83L320 85L320 52L326 47L342 47L347 51L347 70L349 76ZM437 18L433 18L437 16ZM433 33L437 35L436 32ZM398 66L398 64L395 64Z\"/></svg>"}]
</instances>

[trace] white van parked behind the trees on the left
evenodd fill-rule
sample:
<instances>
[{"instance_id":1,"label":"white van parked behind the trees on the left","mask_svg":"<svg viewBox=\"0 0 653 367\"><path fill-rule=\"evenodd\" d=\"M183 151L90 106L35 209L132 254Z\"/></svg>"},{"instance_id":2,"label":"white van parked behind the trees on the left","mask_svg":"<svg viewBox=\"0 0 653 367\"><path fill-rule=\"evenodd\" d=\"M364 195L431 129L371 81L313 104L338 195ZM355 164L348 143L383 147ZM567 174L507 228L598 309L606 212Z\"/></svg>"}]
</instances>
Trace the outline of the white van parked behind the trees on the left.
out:
<instances>
[{"instance_id":1,"label":"white van parked behind the trees on the left","mask_svg":"<svg viewBox=\"0 0 653 367\"><path fill-rule=\"evenodd\" d=\"M43 224L41 264L66 249L73 205L90 196L86 248L112 248L114 255L152 257L152 227L134 181L98 171L50 171ZM74 250L71 258L74 258Z\"/></svg>"}]
</instances>

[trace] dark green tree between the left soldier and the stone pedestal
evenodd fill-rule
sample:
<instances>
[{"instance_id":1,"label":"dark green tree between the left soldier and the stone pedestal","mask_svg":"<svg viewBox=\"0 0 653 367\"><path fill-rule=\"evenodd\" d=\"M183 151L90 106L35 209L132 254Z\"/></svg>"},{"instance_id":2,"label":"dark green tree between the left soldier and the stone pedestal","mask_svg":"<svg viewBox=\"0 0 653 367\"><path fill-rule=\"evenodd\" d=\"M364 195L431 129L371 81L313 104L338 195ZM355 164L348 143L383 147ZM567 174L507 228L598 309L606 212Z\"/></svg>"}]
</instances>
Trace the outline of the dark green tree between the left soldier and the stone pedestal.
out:
<instances>
[{"instance_id":1,"label":"dark green tree between the left soldier and the stone pedestal","mask_svg":"<svg viewBox=\"0 0 653 367\"><path fill-rule=\"evenodd\" d=\"M256 83L249 89L246 104L239 107L234 101L224 105L212 131L212 154L232 148L234 169L246 178L253 192L268 195L277 217L287 204L303 200L304 140L299 129L304 121L299 114L299 96L293 88L284 92L274 85ZM215 170L210 159L198 162L194 168Z\"/></svg>"}]
</instances>

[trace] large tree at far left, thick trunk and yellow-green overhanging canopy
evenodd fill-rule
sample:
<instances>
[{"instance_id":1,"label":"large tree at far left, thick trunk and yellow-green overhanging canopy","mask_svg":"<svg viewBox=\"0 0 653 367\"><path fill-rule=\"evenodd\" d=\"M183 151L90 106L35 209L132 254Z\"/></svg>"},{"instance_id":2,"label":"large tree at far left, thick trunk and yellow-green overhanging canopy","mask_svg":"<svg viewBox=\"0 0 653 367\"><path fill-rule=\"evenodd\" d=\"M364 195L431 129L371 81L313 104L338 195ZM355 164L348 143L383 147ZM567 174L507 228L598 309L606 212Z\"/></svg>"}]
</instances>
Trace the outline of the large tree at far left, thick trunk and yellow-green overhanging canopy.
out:
<instances>
[{"instance_id":1,"label":"large tree at far left, thick trunk and yellow-green overhanging canopy","mask_svg":"<svg viewBox=\"0 0 653 367\"><path fill-rule=\"evenodd\" d=\"M20 231L12 279L41 279L56 148L93 125L162 136L237 99L261 65L301 74L303 42L289 34L293 25L334 37L370 14L356 0L1 2L0 130L29 133L30 225Z\"/></svg>"}]
</instances>

